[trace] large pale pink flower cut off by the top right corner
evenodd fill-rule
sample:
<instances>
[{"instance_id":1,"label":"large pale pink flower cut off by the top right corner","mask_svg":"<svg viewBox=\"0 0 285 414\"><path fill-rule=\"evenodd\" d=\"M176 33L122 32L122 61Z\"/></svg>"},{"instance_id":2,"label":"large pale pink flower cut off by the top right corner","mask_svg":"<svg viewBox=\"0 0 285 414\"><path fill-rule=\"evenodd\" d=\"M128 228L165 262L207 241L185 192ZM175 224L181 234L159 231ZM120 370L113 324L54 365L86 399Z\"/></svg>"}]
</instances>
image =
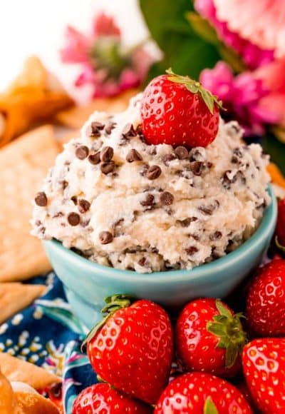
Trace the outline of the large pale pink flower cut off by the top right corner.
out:
<instances>
[{"instance_id":1,"label":"large pale pink flower cut off by the top right corner","mask_svg":"<svg viewBox=\"0 0 285 414\"><path fill-rule=\"evenodd\" d=\"M259 47L285 56L284 0L214 0L217 18Z\"/></svg>"}]
</instances>

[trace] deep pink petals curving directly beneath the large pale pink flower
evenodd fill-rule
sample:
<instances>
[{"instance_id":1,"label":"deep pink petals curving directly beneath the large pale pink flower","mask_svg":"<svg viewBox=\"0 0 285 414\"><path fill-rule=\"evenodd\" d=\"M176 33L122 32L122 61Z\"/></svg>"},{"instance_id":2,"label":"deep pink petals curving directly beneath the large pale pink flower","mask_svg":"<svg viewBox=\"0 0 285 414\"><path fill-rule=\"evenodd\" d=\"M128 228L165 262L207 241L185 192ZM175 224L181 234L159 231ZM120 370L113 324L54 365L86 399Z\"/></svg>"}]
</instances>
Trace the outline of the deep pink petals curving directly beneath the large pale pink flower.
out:
<instances>
[{"instance_id":1,"label":"deep pink petals curving directly beneath the large pale pink flower","mask_svg":"<svg viewBox=\"0 0 285 414\"><path fill-rule=\"evenodd\" d=\"M217 18L214 0L196 0L195 9L212 24L224 44L237 51L249 69L255 69L273 60L273 51L261 49L251 41L243 39L238 33L231 31L226 22Z\"/></svg>"}]
</instances>

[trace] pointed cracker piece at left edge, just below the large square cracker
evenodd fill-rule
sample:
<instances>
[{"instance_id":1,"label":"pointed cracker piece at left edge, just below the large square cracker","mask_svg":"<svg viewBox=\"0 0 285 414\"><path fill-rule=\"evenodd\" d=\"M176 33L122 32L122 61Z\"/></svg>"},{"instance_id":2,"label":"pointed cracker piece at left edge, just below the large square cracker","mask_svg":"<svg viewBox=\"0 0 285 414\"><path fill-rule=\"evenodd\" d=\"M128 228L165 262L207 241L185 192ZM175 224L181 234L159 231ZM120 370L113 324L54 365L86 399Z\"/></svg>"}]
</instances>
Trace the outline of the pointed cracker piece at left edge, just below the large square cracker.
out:
<instances>
[{"instance_id":1,"label":"pointed cracker piece at left edge, just below the large square cracker","mask_svg":"<svg viewBox=\"0 0 285 414\"><path fill-rule=\"evenodd\" d=\"M31 305L43 295L45 285L23 285L22 283L0 283L0 323Z\"/></svg>"}]
</instances>

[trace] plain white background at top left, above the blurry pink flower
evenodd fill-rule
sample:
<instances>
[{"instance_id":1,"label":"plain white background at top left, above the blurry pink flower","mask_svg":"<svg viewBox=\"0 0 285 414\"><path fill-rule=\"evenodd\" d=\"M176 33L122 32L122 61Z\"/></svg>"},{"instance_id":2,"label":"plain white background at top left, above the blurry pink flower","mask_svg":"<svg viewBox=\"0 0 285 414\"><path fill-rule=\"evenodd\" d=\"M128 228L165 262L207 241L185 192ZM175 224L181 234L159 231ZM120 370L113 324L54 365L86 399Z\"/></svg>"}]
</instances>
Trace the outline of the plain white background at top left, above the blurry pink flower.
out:
<instances>
[{"instance_id":1,"label":"plain white background at top left, above the blurry pink flower","mask_svg":"<svg viewBox=\"0 0 285 414\"><path fill-rule=\"evenodd\" d=\"M63 66L59 49L68 24L86 31L100 11L115 16L123 41L137 44L148 36L137 0L9 0L0 5L0 90L18 74L24 59L36 54L70 86L76 68ZM131 18L130 18L131 16Z\"/></svg>"}]
</instances>

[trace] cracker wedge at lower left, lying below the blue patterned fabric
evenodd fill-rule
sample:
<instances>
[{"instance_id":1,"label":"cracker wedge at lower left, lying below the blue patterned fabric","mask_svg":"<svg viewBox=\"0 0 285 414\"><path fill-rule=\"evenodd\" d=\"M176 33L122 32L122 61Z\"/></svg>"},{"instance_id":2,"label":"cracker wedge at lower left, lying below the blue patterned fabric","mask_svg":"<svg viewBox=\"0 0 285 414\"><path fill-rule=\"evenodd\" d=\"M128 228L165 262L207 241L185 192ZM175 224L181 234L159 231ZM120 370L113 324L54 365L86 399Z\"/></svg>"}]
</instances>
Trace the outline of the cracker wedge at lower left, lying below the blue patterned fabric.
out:
<instances>
[{"instance_id":1,"label":"cracker wedge at lower left, lying below the blue patterned fabric","mask_svg":"<svg viewBox=\"0 0 285 414\"><path fill-rule=\"evenodd\" d=\"M0 352L0 369L9 381L20 381L31 385L36 390L43 390L49 385L61 382L61 378L57 375L25 360L15 358L9 353Z\"/></svg>"}]
</instances>

